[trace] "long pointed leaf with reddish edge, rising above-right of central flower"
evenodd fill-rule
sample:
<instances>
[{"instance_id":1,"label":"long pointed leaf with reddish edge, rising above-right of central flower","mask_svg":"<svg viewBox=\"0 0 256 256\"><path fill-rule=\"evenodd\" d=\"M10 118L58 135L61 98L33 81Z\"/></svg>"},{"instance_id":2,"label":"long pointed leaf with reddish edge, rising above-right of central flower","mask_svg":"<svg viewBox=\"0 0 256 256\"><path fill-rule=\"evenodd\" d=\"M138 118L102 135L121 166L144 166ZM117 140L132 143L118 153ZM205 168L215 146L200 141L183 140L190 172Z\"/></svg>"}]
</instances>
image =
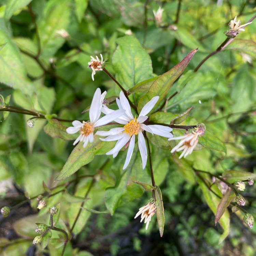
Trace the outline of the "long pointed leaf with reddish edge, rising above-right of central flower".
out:
<instances>
[{"instance_id":1,"label":"long pointed leaf with reddish edge, rising above-right of central flower","mask_svg":"<svg viewBox=\"0 0 256 256\"><path fill-rule=\"evenodd\" d=\"M140 112L143 106L150 101L153 97L159 96L159 100L155 104L153 110L158 106L159 102L167 95L169 89L171 88L174 81L183 73L184 69L187 67L189 61L197 52L198 49L194 49L187 56L179 62L172 69L167 71L166 73L160 75L155 82L151 85L148 93L142 96L138 103L138 111Z\"/></svg>"}]
</instances>

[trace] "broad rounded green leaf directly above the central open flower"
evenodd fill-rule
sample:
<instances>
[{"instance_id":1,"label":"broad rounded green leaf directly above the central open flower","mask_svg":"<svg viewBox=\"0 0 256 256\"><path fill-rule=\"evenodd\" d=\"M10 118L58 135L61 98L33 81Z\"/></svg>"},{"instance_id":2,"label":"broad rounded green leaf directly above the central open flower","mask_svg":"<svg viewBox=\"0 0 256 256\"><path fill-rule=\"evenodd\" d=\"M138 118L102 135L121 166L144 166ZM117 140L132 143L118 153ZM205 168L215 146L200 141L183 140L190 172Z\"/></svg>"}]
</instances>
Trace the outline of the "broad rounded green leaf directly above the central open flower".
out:
<instances>
[{"instance_id":1,"label":"broad rounded green leaf directly above the central open flower","mask_svg":"<svg viewBox=\"0 0 256 256\"><path fill-rule=\"evenodd\" d=\"M129 35L117 39L118 47L113 55L116 80L126 89L153 76L150 56L140 42Z\"/></svg>"}]
</instances>

